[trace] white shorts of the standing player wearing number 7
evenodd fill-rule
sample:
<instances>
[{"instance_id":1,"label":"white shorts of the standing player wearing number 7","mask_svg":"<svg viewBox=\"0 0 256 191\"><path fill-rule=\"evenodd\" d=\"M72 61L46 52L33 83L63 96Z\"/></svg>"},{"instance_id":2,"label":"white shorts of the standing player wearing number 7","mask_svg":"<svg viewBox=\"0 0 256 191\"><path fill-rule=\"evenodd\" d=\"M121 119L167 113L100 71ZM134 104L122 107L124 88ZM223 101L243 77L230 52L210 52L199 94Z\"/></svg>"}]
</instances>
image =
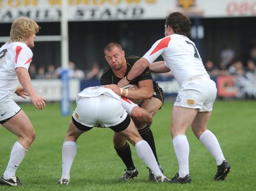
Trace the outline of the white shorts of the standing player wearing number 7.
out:
<instances>
[{"instance_id":1,"label":"white shorts of the standing player wearing number 7","mask_svg":"<svg viewBox=\"0 0 256 191\"><path fill-rule=\"evenodd\" d=\"M200 112L212 111L216 95L216 84L209 77L192 78L182 82L174 105L199 109Z\"/></svg>"}]
</instances>

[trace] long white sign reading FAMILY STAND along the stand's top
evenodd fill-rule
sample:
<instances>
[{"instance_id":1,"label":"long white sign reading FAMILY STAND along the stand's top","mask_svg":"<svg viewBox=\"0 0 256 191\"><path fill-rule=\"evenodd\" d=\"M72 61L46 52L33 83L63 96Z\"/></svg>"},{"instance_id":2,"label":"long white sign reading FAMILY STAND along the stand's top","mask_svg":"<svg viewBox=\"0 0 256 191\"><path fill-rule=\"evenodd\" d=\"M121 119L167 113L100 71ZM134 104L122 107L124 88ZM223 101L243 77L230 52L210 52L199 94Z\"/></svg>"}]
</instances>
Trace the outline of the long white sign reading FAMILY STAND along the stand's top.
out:
<instances>
[{"instance_id":1,"label":"long white sign reading FAMILY STAND along the stand's top","mask_svg":"<svg viewBox=\"0 0 256 191\"><path fill-rule=\"evenodd\" d=\"M165 19L173 11L189 17L255 17L256 0L66 0L69 21ZM1 0L0 22L26 16L60 22L61 0Z\"/></svg>"}]
</instances>

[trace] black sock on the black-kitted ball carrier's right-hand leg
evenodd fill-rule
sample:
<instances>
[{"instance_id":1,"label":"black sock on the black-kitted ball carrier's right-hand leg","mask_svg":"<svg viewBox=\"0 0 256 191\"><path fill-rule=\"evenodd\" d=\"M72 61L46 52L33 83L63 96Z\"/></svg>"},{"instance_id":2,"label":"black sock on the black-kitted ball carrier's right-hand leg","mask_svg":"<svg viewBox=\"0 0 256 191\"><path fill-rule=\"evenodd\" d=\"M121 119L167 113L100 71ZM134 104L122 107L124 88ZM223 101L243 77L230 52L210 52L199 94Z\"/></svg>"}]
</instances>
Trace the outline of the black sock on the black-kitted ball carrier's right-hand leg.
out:
<instances>
[{"instance_id":1,"label":"black sock on the black-kitted ball carrier's right-hand leg","mask_svg":"<svg viewBox=\"0 0 256 191\"><path fill-rule=\"evenodd\" d=\"M150 129L150 126L145 126L144 128L138 129L142 139L148 142L150 148L152 149L154 156L156 157L157 164L159 165L157 154L156 154L156 146L154 141L154 136Z\"/></svg>"}]
</instances>

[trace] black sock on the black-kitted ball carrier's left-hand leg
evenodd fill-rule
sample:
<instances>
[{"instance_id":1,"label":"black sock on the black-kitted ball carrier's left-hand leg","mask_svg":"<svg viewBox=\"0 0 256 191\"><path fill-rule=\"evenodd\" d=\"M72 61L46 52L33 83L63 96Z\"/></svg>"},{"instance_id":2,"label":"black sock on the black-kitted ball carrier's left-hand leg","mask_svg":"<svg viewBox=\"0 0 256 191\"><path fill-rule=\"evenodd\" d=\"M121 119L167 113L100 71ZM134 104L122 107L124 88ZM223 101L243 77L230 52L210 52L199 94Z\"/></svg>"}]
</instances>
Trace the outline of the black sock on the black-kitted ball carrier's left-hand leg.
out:
<instances>
[{"instance_id":1,"label":"black sock on the black-kitted ball carrier's left-hand leg","mask_svg":"<svg viewBox=\"0 0 256 191\"><path fill-rule=\"evenodd\" d=\"M135 166L132 161L132 152L131 152L131 148L130 148L128 142L125 143L124 147L122 147L120 149L115 148L115 150L116 150L117 155L124 162L127 170L134 170Z\"/></svg>"}]
</instances>

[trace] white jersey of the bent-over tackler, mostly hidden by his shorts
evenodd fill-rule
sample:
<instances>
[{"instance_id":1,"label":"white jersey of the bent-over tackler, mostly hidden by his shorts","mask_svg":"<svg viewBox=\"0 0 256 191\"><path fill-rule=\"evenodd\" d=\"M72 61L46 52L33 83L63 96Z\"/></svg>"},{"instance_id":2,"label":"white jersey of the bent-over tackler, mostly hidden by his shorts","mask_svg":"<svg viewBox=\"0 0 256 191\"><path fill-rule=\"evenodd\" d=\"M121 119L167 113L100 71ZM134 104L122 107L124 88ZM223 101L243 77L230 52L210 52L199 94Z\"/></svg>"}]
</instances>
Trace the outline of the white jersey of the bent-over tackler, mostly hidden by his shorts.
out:
<instances>
[{"instance_id":1,"label":"white jersey of the bent-over tackler, mostly hidden by his shorts","mask_svg":"<svg viewBox=\"0 0 256 191\"><path fill-rule=\"evenodd\" d=\"M93 87L88 87L88 88L83 89L83 91L81 91L80 93L77 94L76 103L78 102L78 100L81 97L92 98L92 97L100 96L102 94L108 95L117 100L120 100L120 102L122 102L122 106L130 115L131 115L131 111L132 111L133 107L138 106L137 104L131 102L131 100L129 100L128 98L123 97L123 96L121 97L121 96L117 95L115 92L113 92L111 89L104 88L102 86L93 86Z\"/></svg>"}]
</instances>

